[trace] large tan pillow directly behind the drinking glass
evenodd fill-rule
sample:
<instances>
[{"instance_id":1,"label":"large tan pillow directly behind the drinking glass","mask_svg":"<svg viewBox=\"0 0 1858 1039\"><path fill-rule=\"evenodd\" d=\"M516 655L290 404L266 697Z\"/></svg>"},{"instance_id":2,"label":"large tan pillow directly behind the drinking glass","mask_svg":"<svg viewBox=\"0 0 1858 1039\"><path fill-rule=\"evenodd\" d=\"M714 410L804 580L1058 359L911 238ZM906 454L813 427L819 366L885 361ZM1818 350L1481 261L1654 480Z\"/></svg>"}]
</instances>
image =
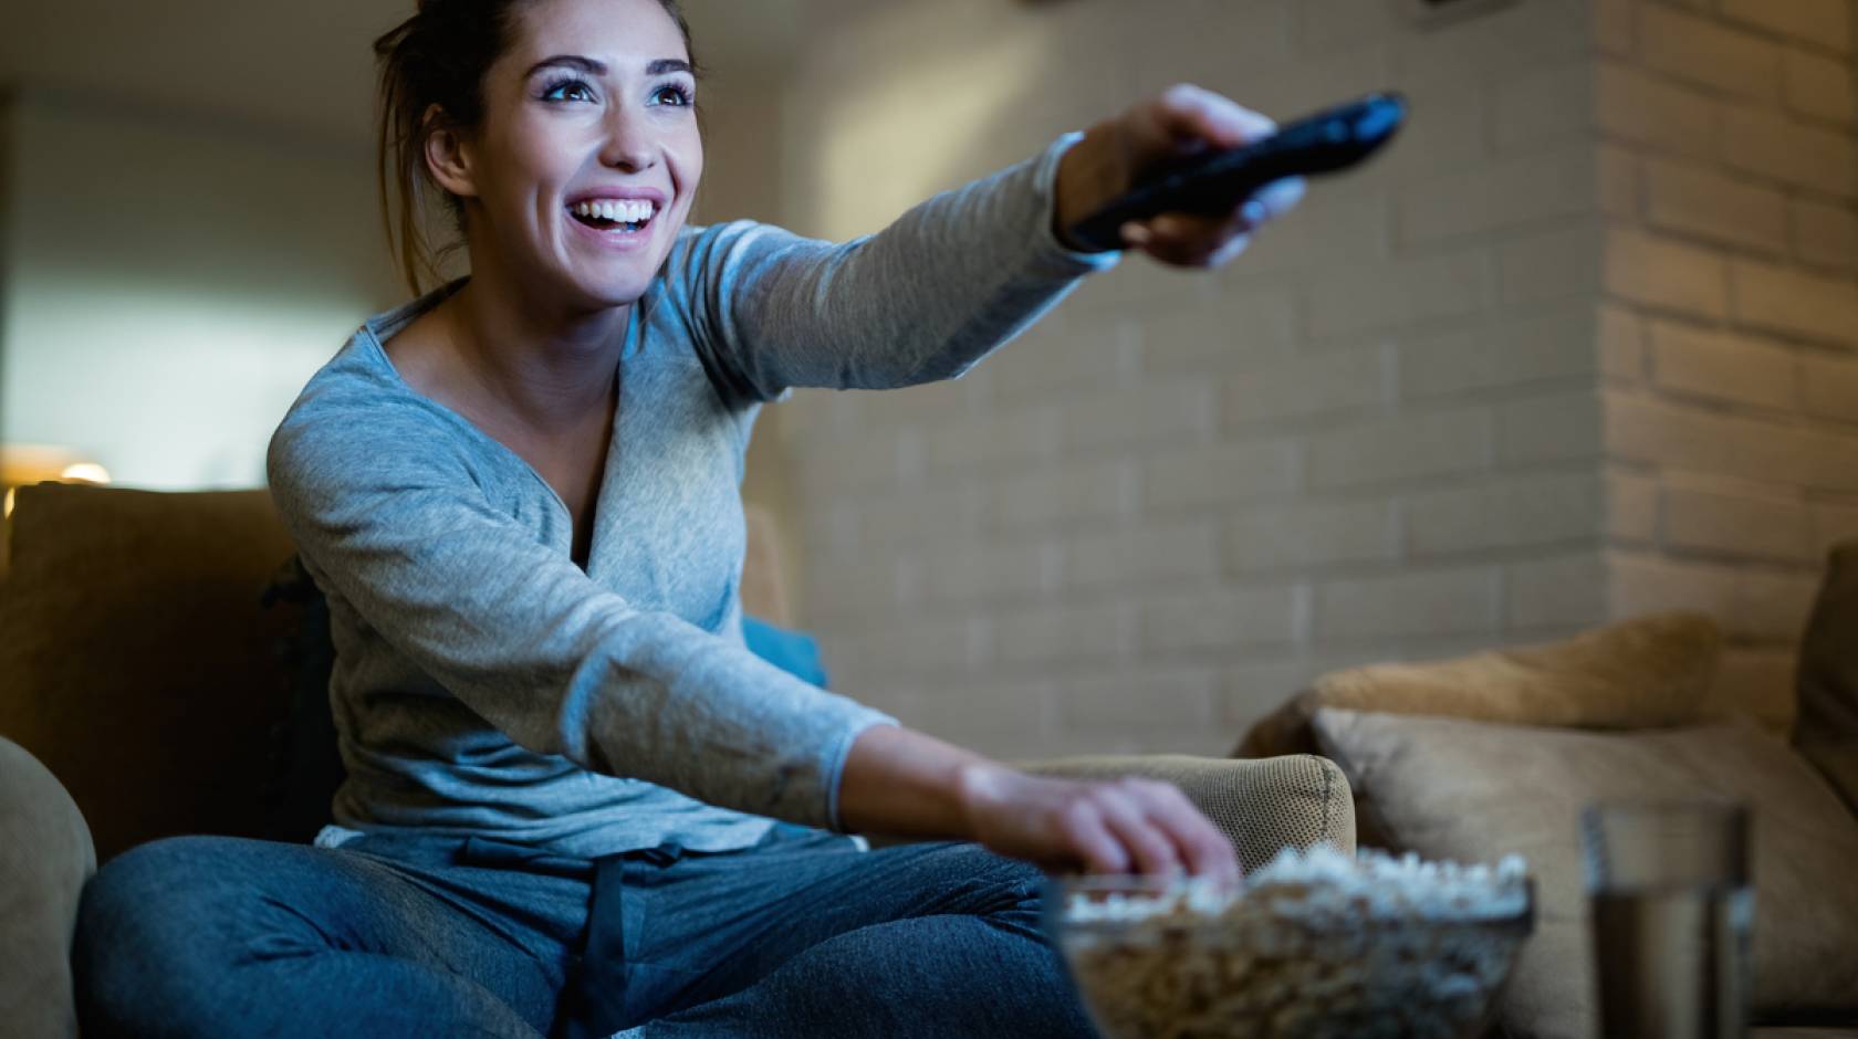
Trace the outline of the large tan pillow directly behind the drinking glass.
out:
<instances>
[{"instance_id":1,"label":"large tan pillow directly behind the drinking glass","mask_svg":"<svg viewBox=\"0 0 1858 1039\"><path fill-rule=\"evenodd\" d=\"M1511 1035L1592 1032L1577 818L1605 800L1748 803L1756 1013L1858 1011L1858 822L1800 755L1752 722L1583 733L1323 709L1314 725L1397 848L1529 861L1540 915L1505 994Z\"/></svg>"}]
</instances>

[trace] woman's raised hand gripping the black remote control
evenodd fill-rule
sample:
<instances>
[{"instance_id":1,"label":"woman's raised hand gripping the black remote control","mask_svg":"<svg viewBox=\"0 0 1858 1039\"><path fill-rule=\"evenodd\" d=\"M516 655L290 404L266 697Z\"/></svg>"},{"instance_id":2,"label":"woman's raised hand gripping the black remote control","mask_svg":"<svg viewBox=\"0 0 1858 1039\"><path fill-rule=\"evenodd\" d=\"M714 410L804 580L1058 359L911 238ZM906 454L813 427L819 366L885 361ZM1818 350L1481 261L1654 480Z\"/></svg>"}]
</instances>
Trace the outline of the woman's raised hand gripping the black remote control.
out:
<instances>
[{"instance_id":1,"label":"woman's raised hand gripping the black remote control","mask_svg":"<svg viewBox=\"0 0 1858 1039\"><path fill-rule=\"evenodd\" d=\"M1206 148L1236 148L1269 137L1276 122L1213 91L1176 83L1154 98L1098 122L1065 152L1057 169L1053 230L1070 249L1081 249L1065 228L1089 217L1156 173ZM1122 224L1122 239L1176 267L1223 267L1250 245L1254 230L1288 213L1304 180L1267 184L1230 213L1159 213Z\"/></svg>"}]
</instances>

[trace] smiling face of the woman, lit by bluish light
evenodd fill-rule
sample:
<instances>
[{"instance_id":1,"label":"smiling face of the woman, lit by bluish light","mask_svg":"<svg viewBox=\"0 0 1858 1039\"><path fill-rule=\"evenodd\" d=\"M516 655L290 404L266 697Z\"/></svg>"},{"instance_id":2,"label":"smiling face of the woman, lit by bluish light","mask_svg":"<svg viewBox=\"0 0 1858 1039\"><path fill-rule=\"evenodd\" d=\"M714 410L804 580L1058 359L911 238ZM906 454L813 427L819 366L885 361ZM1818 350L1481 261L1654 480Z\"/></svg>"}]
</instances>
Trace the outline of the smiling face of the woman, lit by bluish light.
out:
<instances>
[{"instance_id":1,"label":"smiling face of the woman, lit by bluish light","mask_svg":"<svg viewBox=\"0 0 1858 1039\"><path fill-rule=\"evenodd\" d=\"M483 224L474 249L496 249L531 289L559 284L570 304L632 302L702 176L684 35L658 0L533 0L515 13L464 143L466 219Z\"/></svg>"}]
</instances>

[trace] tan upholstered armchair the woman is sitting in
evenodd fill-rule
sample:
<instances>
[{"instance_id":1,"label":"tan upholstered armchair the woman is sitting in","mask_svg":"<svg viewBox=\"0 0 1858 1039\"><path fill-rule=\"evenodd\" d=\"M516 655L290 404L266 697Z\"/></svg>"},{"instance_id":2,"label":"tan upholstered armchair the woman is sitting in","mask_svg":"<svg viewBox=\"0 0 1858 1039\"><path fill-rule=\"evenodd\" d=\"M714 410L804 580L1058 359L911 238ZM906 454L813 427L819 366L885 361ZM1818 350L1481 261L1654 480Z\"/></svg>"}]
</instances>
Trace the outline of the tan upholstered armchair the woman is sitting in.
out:
<instances>
[{"instance_id":1,"label":"tan upholstered armchair the woman is sitting in","mask_svg":"<svg viewBox=\"0 0 1858 1039\"><path fill-rule=\"evenodd\" d=\"M765 516L743 605L784 620ZM327 627L264 490L19 488L0 577L0 1037L76 1035L84 881L158 837L310 840L334 763ZM857 690L847 690L857 692ZM1252 868L1354 848L1341 772L1314 755L1014 763L1178 783Z\"/></svg>"}]
</instances>

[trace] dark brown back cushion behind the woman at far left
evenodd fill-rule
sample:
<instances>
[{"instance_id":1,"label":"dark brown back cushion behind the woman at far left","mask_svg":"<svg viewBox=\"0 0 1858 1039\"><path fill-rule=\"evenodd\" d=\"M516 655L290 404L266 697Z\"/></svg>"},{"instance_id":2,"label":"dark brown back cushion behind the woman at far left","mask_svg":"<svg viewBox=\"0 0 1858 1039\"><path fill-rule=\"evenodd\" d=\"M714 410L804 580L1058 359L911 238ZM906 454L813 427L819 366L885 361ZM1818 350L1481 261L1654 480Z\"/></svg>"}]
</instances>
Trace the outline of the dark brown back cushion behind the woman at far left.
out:
<instances>
[{"instance_id":1,"label":"dark brown back cushion behind the woman at far left","mask_svg":"<svg viewBox=\"0 0 1858 1039\"><path fill-rule=\"evenodd\" d=\"M294 551L264 490L19 490L0 735L71 790L98 861L175 833L264 833L290 616L260 594Z\"/></svg>"}]
</instances>

